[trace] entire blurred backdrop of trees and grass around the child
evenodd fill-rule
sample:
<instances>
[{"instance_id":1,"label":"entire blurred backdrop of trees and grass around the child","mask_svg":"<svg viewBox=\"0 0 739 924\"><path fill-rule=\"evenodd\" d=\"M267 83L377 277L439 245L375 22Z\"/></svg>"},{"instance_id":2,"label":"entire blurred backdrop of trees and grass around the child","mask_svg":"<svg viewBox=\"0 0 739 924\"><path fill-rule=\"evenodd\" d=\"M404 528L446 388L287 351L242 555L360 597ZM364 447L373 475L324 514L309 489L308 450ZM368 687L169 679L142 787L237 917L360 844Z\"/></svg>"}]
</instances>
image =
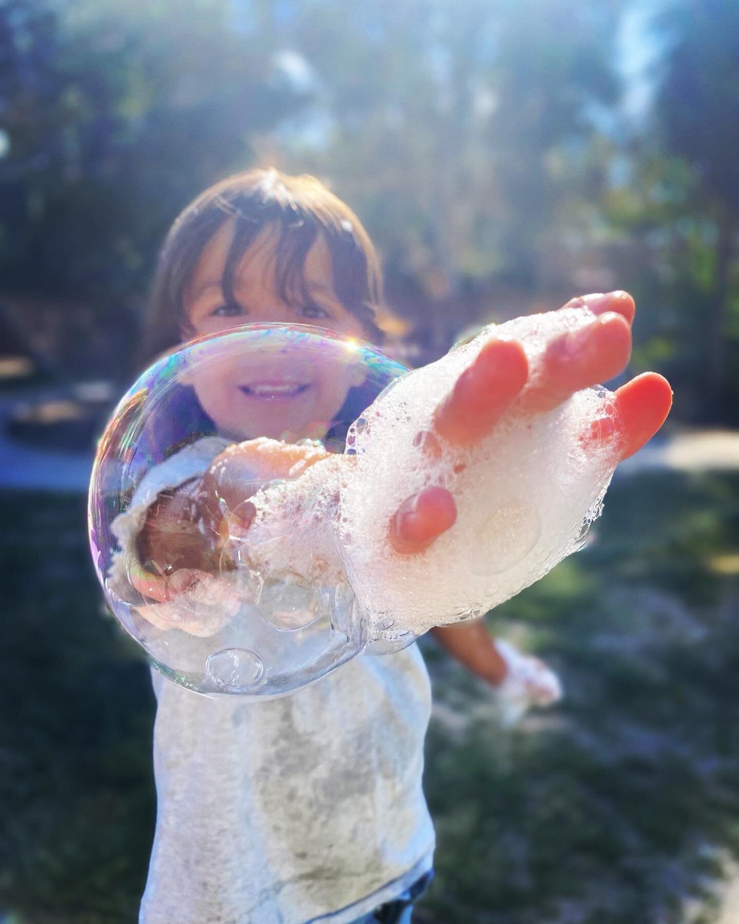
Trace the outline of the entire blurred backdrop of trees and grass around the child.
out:
<instances>
[{"instance_id":1,"label":"entire blurred backdrop of trees and grass around the child","mask_svg":"<svg viewBox=\"0 0 739 924\"><path fill-rule=\"evenodd\" d=\"M624 288L628 374L674 387L588 548L488 617L563 705L504 730L424 647L418 921L735 924L736 0L0 0L0 921L136 917L153 703L83 494L168 226L255 164L359 214L408 364Z\"/></svg>"}]
</instances>

